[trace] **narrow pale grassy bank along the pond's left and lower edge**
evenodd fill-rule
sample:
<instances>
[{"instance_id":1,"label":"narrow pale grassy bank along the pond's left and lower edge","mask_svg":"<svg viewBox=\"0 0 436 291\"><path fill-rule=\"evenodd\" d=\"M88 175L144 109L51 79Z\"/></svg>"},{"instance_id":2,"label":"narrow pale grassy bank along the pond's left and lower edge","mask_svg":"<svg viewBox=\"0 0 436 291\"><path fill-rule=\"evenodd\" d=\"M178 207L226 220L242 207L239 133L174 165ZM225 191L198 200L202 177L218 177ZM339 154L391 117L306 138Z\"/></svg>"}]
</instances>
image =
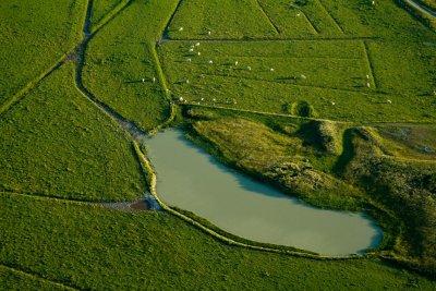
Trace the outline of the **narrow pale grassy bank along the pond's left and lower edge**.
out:
<instances>
[{"instance_id":1,"label":"narrow pale grassy bank along the pond's left and lower edge","mask_svg":"<svg viewBox=\"0 0 436 291\"><path fill-rule=\"evenodd\" d=\"M318 255L318 254L312 254L312 253L305 253L305 252L299 252L299 251L291 251L291 250L284 250L284 248L274 248L269 246L261 246L261 245L254 245L254 244L249 244L249 243L243 243L235 241L233 239L227 238L223 234L220 234L216 232L215 230L204 226L203 223L198 222L197 220L185 216L184 214L173 209L172 207L168 206L165 204L160 198L156 190L157 185L157 175L156 171L154 170L152 162L148 160L148 158L142 153L140 149L140 146L135 144L135 149L136 154L138 156L138 159L142 161L142 165L144 167L144 171L149 173L147 175L148 179L148 184L149 184L149 192L150 194L155 197L156 202L160 205L160 207L185 222L194 226L195 228L199 229L203 232L206 232L207 234L210 234L213 238L227 243L228 245L234 245L234 246L240 246L244 248L250 248L250 250L255 250L255 251L264 251L264 252L270 252L270 253L278 253L278 254L287 254L287 255L292 255L292 256L298 256L298 257L306 257L306 258L312 258L312 259L318 259L318 260L346 260L346 259L360 259L363 257L368 257L371 254L365 254L365 255L349 255L349 256L324 256L324 255Z\"/></svg>"}]
</instances>

